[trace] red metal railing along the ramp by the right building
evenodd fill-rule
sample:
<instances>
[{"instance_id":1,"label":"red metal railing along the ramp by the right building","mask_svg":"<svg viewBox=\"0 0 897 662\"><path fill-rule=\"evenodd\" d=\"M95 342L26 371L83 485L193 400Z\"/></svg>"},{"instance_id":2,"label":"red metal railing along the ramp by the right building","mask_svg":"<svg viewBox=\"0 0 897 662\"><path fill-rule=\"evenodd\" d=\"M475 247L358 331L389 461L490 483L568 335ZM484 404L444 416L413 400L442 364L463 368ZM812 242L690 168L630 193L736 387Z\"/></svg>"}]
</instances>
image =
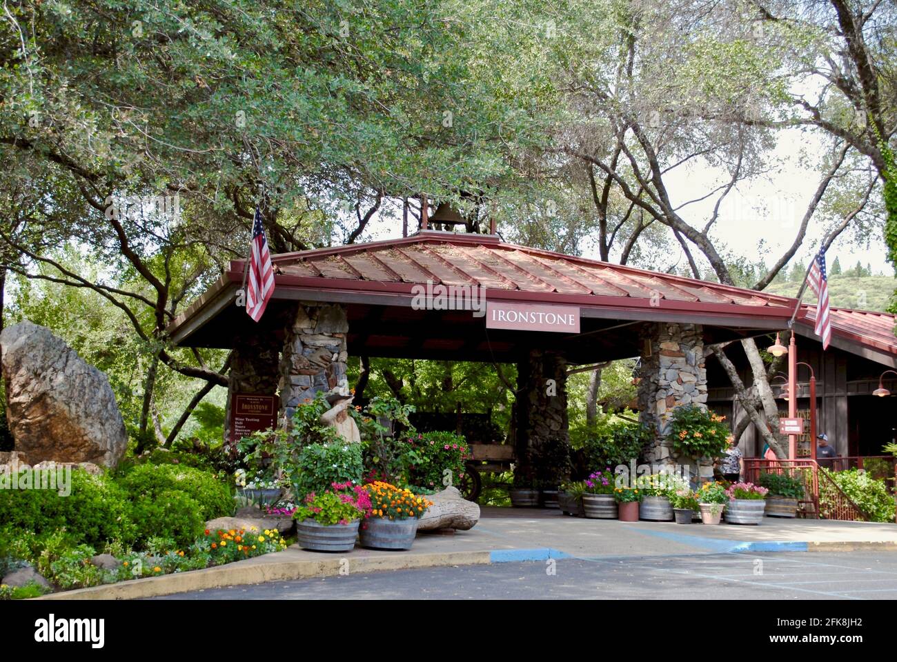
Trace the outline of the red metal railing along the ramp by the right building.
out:
<instances>
[{"instance_id":1,"label":"red metal railing along the ramp by the right building","mask_svg":"<svg viewBox=\"0 0 897 662\"><path fill-rule=\"evenodd\" d=\"M833 461L841 460L841 464L845 468L850 466L851 459L854 458L832 458ZM863 468L863 458L858 459L860 459L858 468ZM868 465L868 463L866 464ZM804 510L805 516L811 514L812 511L813 515L818 515L823 519L849 521L868 521L870 519L868 514L840 489L838 483L832 480L827 471L820 471L819 464L813 459L767 460L762 457L745 457L746 481L757 483L762 473L787 474L802 479L805 498L799 501L803 506L802 510Z\"/></svg>"}]
</instances>

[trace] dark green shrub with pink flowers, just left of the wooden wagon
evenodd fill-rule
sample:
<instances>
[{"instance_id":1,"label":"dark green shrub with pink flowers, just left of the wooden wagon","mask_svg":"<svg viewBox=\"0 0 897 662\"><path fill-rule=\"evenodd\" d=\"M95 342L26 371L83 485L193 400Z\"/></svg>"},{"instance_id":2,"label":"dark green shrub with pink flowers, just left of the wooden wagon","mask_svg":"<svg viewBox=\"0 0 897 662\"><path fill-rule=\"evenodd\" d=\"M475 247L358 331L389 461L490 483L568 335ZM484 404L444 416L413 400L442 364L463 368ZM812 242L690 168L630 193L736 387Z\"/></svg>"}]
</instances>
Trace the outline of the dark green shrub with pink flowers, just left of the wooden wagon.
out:
<instances>
[{"instance_id":1,"label":"dark green shrub with pink flowers, just left of the wooden wagon","mask_svg":"<svg viewBox=\"0 0 897 662\"><path fill-rule=\"evenodd\" d=\"M424 432L400 442L408 483L431 490L442 485L457 485L466 472L470 447L455 432Z\"/></svg>"}]
</instances>

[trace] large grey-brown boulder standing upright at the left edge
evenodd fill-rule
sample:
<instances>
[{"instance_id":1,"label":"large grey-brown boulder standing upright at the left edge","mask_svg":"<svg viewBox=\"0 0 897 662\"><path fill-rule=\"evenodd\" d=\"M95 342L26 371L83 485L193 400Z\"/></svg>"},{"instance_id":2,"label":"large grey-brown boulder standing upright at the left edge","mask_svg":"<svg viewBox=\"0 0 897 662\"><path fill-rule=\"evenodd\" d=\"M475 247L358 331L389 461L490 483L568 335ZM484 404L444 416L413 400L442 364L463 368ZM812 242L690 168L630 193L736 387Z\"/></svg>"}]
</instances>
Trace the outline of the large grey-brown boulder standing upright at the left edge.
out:
<instances>
[{"instance_id":1,"label":"large grey-brown boulder standing upright at the left edge","mask_svg":"<svg viewBox=\"0 0 897 662\"><path fill-rule=\"evenodd\" d=\"M127 433L106 375L31 322L4 328L0 347L15 449L31 462L118 465Z\"/></svg>"}]
</instances>

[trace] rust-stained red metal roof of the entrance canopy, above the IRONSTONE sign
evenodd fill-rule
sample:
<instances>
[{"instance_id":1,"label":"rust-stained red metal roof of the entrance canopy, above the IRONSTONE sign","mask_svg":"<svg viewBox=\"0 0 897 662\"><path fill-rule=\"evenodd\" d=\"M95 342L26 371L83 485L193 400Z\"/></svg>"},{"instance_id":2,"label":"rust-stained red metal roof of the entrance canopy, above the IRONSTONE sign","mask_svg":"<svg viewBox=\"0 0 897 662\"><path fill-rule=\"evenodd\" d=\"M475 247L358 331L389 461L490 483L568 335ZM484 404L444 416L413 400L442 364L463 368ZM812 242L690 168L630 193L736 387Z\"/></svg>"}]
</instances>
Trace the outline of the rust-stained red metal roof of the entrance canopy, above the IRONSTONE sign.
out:
<instances>
[{"instance_id":1,"label":"rust-stained red metal roof of the entrance canopy, above the IRONSTONE sign","mask_svg":"<svg viewBox=\"0 0 897 662\"><path fill-rule=\"evenodd\" d=\"M274 255L277 284L409 292L415 284L482 285L491 298L568 301L788 317L795 300L671 274L501 242L491 235L423 231L376 241ZM242 274L243 262L230 273ZM532 295L527 297L526 295Z\"/></svg>"}]
</instances>

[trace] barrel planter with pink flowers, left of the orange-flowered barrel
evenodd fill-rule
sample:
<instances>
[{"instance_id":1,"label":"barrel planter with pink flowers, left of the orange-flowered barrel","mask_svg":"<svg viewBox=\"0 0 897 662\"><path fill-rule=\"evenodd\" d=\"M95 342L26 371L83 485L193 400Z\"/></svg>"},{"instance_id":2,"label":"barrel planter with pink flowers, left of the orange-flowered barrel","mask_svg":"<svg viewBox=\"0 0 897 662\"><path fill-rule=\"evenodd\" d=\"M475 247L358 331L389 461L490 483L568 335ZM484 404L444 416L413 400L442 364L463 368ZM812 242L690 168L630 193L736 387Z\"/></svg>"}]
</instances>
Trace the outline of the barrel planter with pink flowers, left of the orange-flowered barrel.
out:
<instances>
[{"instance_id":1,"label":"barrel planter with pink flowers, left of the orange-flowered barrel","mask_svg":"<svg viewBox=\"0 0 897 662\"><path fill-rule=\"evenodd\" d=\"M351 552L355 546L359 520L370 510L368 492L352 483L333 483L332 488L309 492L292 514L302 549Z\"/></svg>"}]
</instances>

